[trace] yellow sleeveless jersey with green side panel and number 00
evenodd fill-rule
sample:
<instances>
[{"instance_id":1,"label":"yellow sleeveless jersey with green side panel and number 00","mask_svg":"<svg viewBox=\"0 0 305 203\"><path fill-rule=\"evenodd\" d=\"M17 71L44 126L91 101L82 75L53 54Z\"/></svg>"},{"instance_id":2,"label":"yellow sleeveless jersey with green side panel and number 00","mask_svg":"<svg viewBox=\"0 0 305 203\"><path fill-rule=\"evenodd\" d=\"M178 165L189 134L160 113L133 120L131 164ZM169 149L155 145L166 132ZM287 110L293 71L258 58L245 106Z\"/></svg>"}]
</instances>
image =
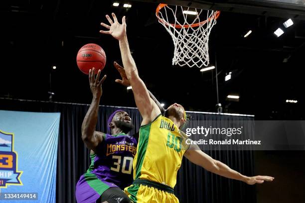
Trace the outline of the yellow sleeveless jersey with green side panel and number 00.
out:
<instances>
[{"instance_id":1,"label":"yellow sleeveless jersey with green side panel and number 00","mask_svg":"<svg viewBox=\"0 0 305 203\"><path fill-rule=\"evenodd\" d=\"M141 126L133 162L134 180L146 179L174 188L183 154L188 148L186 139L185 133L161 114Z\"/></svg>"}]
</instances>

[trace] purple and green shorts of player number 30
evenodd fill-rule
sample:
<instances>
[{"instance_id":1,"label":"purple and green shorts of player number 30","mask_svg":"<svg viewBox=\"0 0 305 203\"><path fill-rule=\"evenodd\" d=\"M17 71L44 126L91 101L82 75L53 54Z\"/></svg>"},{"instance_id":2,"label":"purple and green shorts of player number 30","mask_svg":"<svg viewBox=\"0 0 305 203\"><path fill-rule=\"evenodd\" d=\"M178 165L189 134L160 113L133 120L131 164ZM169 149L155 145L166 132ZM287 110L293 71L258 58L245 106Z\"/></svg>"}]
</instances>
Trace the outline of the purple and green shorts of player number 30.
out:
<instances>
[{"instance_id":1,"label":"purple and green shorts of player number 30","mask_svg":"<svg viewBox=\"0 0 305 203\"><path fill-rule=\"evenodd\" d=\"M118 187L113 183L101 181L94 174L84 174L76 184L77 203L96 203L109 188Z\"/></svg>"}]
</instances>

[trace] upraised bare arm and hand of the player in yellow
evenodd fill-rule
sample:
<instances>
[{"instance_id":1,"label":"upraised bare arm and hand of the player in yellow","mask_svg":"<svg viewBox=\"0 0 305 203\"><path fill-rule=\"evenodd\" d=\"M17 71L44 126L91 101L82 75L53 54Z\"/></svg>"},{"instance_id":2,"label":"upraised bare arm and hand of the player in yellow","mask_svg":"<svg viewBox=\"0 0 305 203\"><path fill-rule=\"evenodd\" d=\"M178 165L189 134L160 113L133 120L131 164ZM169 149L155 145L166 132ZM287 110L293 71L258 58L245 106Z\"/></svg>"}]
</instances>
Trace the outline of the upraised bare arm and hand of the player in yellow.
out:
<instances>
[{"instance_id":1,"label":"upraised bare arm and hand of the player in yellow","mask_svg":"<svg viewBox=\"0 0 305 203\"><path fill-rule=\"evenodd\" d=\"M106 15L110 25L101 23L102 26L109 29L108 31L101 30L101 33L110 34L117 40L119 40L120 50L125 72L130 84L133 88L133 94L137 107L143 117L142 125L150 123L158 114L160 110L155 102L150 98L146 85L141 80L138 74L136 63L130 53L129 44L126 34L126 22L125 16L122 19L122 24L118 22L118 19L114 13L112 13L113 20Z\"/></svg>"}]
</instances>

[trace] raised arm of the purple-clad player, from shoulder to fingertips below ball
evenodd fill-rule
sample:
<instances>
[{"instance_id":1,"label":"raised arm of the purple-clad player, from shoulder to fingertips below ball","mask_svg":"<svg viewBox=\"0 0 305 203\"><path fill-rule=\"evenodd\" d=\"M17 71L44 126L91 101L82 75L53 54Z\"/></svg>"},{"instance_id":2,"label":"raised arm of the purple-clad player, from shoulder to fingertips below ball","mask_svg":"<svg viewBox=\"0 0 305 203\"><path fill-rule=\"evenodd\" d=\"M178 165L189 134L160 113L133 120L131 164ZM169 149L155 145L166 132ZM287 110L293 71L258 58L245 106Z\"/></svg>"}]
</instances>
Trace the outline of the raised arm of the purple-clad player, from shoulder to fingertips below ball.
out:
<instances>
[{"instance_id":1,"label":"raised arm of the purple-clad player, from shoulder to fingertips below ball","mask_svg":"<svg viewBox=\"0 0 305 203\"><path fill-rule=\"evenodd\" d=\"M90 69L89 71L89 83L90 89L92 92L92 102L86 113L82 124L82 139L87 146L88 149L92 149L93 151L98 146L100 142L103 141L102 132L95 131L97 119L98 119L98 110L99 103L102 96L102 83L106 79L106 75L99 81L101 71L99 70L96 78L95 77L95 69Z\"/></svg>"}]
</instances>

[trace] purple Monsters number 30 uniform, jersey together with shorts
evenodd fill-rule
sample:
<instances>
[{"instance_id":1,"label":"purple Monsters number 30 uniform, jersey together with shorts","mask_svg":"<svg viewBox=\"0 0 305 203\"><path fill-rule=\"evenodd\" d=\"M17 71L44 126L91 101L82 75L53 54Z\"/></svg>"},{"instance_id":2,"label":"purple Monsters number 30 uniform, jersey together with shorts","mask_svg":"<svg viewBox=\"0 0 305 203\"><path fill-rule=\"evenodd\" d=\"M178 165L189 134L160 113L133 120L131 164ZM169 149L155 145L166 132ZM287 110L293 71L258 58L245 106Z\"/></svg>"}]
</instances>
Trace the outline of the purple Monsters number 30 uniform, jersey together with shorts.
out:
<instances>
[{"instance_id":1,"label":"purple Monsters number 30 uniform, jersey together with shorts","mask_svg":"<svg viewBox=\"0 0 305 203\"><path fill-rule=\"evenodd\" d=\"M94 154L91 165L76 184L78 203L95 203L111 187L122 190L133 182L133 160L137 140L124 133L106 134Z\"/></svg>"}]
</instances>

